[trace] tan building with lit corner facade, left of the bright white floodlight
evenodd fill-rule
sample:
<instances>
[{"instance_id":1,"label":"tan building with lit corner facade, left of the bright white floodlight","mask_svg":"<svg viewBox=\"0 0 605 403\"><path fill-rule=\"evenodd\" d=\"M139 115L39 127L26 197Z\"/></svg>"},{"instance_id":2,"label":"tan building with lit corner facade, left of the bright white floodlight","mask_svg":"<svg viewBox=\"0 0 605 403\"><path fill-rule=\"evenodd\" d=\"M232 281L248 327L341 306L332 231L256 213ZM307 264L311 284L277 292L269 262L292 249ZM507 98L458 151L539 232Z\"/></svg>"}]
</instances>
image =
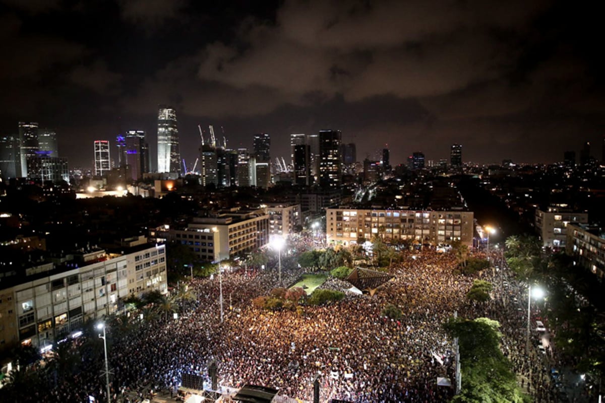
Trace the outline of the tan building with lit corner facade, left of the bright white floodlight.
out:
<instances>
[{"instance_id":1,"label":"tan building with lit corner facade, left of the bright white floodlight","mask_svg":"<svg viewBox=\"0 0 605 403\"><path fill-rule=\"evenodd\" d=\"M266 246L269 215L266 208L219 211L194 218L186 228L170 228L168 237L186 245L202 260L220 262Z\"/></svg>"}]
</instances>

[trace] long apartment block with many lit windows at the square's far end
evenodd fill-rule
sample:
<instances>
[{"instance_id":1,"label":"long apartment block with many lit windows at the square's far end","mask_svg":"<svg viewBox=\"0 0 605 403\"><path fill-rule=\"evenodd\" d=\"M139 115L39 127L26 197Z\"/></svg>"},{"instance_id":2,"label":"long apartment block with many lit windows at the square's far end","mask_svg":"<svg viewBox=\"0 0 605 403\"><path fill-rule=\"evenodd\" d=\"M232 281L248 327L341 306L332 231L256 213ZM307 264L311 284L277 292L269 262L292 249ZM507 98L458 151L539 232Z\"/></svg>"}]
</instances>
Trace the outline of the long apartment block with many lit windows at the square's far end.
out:
<instances>
[{"instance_id":1,"label":"long apartment block with many lit windows at the square's far end","mask_svg":"<svg viewBox=\"0 0 605 403\"><path fill-rule=\"evenodd\" d=\"M359 238L381 236L385 242L473 243L473 212L328 208L325 213L329 243L351 245Z\"/></svg>"}]
</instances>

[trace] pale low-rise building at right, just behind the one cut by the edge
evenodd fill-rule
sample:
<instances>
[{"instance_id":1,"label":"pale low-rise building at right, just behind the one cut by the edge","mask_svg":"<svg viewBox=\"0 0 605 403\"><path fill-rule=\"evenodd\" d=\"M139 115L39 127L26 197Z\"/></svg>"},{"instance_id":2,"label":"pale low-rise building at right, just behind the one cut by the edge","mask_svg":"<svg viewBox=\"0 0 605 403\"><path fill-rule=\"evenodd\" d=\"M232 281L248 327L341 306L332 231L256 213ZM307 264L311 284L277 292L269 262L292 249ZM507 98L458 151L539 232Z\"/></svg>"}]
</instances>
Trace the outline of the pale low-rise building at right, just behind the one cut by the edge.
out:
<instances>
[{"instance_id":1,"label":"pale low-rise building at right, just behind the one cut by the edge","mask_svg":"<svg viewBox=\"0 0 605 403\"><path fill-rule=\"evenodd\" d=\"M578 213L564 208L549 207L548 210L535 210L535 230L542 239L543 247L565 248L567 224L588 222L588 213Z\"/></svg>"}]
</instances>

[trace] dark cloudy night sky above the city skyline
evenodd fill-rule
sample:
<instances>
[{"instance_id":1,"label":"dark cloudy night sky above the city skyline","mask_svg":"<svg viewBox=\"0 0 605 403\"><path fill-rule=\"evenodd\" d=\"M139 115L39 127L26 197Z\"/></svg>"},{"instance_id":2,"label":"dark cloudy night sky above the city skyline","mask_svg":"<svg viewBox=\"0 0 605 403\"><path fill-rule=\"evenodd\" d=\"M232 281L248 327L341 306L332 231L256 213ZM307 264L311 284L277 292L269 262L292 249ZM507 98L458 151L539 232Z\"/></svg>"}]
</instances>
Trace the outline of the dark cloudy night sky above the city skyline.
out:
<instances>
[{"instance_id":1,"label":"dark cloudy night sky above the city skyline","mask_svg":"<svg viewBox=\"0 0 605 403\"><path fill-rule=\"evenodd\" d=\"M253 4L253 3L260 3ZM605 63L593 2L0 0L0 135L38 121L70 166L93 140L177 108L181 156L197 125L229 147L267 132L340 129L358 160L391 164L452 143L477 163L551 163L591 141L601 159Z\"/></svg>"}]
</instances>

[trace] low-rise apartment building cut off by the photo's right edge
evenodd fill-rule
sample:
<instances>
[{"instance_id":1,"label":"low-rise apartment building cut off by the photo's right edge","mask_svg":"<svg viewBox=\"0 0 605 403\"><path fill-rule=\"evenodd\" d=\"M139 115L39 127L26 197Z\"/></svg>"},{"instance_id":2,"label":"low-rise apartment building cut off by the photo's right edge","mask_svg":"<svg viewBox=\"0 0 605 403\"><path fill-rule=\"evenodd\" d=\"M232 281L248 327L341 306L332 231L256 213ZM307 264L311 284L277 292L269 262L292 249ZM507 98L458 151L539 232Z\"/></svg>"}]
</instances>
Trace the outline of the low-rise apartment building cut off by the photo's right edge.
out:
<instances>
[{"instance_id":1,"label":"low-rise apartment building cut off by the photo's right edge","mask_svg":"<svg viewBox=\"0 0 605 403\"><path fill-rule=\"evenodd\" d=\"M569 223L565 253L574 265L605 277L605 231L597 225Z\"/></svg>"}]
</instances>

